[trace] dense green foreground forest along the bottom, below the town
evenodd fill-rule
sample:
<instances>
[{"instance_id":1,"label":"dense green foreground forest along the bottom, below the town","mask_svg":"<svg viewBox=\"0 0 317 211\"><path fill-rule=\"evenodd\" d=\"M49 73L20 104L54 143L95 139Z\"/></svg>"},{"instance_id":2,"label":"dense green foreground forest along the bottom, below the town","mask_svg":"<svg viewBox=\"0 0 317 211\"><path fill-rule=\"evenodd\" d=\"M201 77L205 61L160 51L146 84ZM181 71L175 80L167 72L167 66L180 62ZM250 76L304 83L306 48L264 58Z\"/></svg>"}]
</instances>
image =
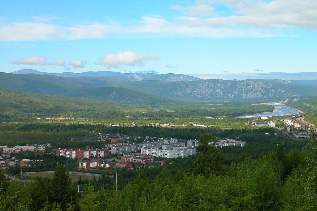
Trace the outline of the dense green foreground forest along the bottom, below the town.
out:
<instances>
[{"instance_id":1,"label":"dense green foreground forest along the bottom, below the town","mask_svg":"<svg viewBox=\"0 0 317 211\"><path fill-rule=\"evenodd\" d=\"M200 136L197 157L173 165L117 172L77 183L59 165L52 179L8 182L0 171L2 210L316 210L317 136L307 147L283 144L252 158L243 153L225 164L223 152ZM124 178L122 177L124 175ZM122 182L121 182L122 181ZM82 186L84 184L84 186Z\"/></svg>"}]
</instances>

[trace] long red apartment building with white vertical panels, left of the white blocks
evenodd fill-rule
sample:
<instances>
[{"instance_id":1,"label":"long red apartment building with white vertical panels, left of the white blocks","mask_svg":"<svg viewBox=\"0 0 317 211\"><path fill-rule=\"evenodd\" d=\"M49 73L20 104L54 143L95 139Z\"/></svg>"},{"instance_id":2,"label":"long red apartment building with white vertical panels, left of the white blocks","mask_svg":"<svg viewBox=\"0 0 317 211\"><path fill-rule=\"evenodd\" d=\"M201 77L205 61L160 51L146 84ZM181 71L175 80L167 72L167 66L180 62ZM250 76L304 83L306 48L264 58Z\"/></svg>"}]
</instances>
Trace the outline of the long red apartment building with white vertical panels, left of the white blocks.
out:
<instances>
[{"instance_id":1,"label":"long red apartment building with white vertical panels, left of the white blocks","mask_svg":"<svg viewBox=\"0 0 317 211\"><path fill-rule=\"evenodd\" d=\"M89 157L108 157L109 149L89 149L89 150L67 150L67 149L56 149L55 155L70 157L70 158L89 158Z\"/></svg>"}]
</instances>

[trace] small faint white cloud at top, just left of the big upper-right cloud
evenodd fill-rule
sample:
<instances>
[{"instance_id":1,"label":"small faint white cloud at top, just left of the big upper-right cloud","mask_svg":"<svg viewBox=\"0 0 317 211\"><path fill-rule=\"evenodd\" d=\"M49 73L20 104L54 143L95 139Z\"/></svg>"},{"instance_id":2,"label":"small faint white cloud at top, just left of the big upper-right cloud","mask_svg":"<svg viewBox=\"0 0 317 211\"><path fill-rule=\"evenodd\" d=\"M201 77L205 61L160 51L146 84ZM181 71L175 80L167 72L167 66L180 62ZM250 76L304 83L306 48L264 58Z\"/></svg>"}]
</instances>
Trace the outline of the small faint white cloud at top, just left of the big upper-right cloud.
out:
<instances>
[{"instance_id":1,"label":"small faint white cloud at top, just left of the big upper-right cloud","mask_svg":"<svg viewBox=\"0 0 317 211\"><path fill-rule=\"evenodd\" d=\"M182 7L180 5L173 5L171 9L182 11L184 15L189 16L213 16L215 15L214 8L209 4L191 5Z\"/></svg>"}]
</instances>

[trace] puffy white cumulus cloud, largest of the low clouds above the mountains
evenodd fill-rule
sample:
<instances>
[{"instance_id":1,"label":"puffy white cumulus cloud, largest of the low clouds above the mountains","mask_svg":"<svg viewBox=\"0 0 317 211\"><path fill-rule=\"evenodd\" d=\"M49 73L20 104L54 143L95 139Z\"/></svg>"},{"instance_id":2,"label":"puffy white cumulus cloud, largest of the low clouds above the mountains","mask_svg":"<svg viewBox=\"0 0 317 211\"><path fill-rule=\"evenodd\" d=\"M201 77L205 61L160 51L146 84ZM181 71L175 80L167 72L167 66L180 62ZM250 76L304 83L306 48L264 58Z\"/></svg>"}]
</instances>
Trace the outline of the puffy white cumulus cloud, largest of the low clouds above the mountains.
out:
<instances>
[{"instance_id":1,"label":"puffy white cumulus cloud, largest of the low clouds above the mountains","mask_svg":"<svg viewBox=\"0 0 317 211\"><path fill-rule=\"evenodd\" d=\"M136 54L133 51L119 51L118 54L106 54L105 59L101 62L107 67L118 67L120 65L127 66L144 66L145 60L159 60L159 56L153 54L142 55Z\"/></svg>"}]
</instances>

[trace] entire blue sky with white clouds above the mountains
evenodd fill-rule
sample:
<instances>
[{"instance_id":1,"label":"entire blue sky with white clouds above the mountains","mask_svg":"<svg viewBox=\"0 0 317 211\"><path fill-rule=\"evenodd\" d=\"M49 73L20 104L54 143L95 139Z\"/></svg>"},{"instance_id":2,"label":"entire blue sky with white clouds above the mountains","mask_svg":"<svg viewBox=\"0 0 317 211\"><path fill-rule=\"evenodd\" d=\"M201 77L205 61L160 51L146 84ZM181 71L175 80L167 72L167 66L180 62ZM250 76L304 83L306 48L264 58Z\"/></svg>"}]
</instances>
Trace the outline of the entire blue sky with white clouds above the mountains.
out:
<instances>
[{"instance_id":1,"label":"entire blue sky with white clouds above the mountains","mask_svg":"<svg viewBox=\"0 0 317 211\"><path fill-rule=\"evenodd\" d=\"M0 8L0 72L317 72L317 0L15 0Z\"/></svg>"}]
</instances>

